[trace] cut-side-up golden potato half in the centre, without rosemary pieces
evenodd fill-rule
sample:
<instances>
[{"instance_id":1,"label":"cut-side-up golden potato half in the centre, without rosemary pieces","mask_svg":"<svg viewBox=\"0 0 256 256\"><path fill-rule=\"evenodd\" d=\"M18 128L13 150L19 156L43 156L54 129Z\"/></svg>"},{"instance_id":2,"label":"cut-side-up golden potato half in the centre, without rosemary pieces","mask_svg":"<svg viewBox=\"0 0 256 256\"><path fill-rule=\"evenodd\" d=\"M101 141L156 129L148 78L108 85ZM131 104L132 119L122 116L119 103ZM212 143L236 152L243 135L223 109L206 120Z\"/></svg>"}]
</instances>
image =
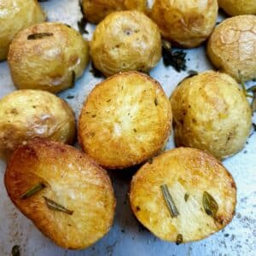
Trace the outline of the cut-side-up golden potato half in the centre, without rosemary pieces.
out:
<instances>
[{"instance_id":1,"label":"cut-side-up golden potato half in the centre, without rosemary pieces","mask_svg":"<svg viewBox=\"0 0 256 256\"><path fill-rule=\"evenodd\" d=\"M101 166L122 169L160 152L171 123L171 104L157 81L119 73L90 92L79 118L79 143Z\"/></svg>"}]
</instances>

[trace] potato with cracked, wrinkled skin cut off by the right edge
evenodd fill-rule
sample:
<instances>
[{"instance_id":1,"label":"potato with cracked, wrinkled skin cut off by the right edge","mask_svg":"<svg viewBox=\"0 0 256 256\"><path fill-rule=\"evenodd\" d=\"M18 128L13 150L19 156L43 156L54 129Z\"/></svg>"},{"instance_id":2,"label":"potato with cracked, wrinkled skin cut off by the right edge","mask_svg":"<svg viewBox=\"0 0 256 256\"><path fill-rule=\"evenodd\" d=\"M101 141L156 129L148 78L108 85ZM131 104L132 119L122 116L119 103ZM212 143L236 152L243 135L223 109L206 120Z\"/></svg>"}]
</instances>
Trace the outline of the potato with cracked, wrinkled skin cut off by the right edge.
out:
<instances>
[{"instance_id":1,"label":"potato with cracked, wrinkled skin cut off by the right edge","mask_svg":"<svg viewBox=\"0 0 256 256\"><path fill-rule=\"evenodd\" d=\"M256 16L224 20L212 32L207 45L212 64L237 81L256 78Z\"/></svg>"}]
</instances>

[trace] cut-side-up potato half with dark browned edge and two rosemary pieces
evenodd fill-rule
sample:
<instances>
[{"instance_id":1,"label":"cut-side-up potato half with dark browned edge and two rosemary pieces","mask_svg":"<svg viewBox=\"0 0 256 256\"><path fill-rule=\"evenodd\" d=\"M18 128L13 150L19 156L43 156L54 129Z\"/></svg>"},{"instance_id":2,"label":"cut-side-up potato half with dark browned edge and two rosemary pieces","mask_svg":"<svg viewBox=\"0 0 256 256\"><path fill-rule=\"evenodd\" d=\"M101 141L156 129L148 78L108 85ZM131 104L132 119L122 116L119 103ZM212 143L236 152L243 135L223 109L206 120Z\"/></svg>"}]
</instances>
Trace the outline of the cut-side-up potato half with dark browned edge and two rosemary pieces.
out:
<instances>
[{"instance_id":1,"label":"cut-side-up potato half with dark browned edge and two rosemary pieces","mask_svg":"<svg viewBox=\"0 0 256 256\"><path fill-rule=\"evenodd\" d=\"M76 148L36 138L15 150L4 178L15 206L60 247L89 247L113 224L108 174Z\"/></svg>"}]
</instances>

